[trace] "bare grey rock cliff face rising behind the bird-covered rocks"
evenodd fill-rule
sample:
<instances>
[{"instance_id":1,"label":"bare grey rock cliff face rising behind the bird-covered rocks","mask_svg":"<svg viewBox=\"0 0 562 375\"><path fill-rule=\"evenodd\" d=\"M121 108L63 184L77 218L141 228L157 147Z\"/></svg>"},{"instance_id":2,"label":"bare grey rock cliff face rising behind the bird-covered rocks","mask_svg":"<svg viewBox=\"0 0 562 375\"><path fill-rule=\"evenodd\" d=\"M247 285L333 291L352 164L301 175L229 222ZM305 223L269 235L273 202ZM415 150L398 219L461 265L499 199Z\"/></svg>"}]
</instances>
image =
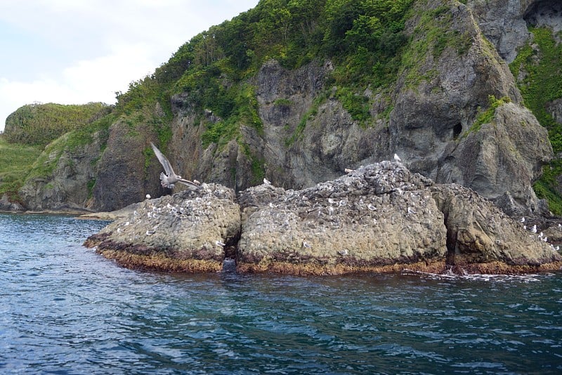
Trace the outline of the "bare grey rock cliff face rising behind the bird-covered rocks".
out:
<instances>
[{"instance_id":1,"label":"bare grey rock cliff face rising behind the bird-covered rocks","mask_svg":"<svg viewBox=\"0 0 562 375\"><path fill-rule=\"evenodd\" d=\"M269 60L244 81L254 88L261 126L242 121L233 139L203 147L209 124L221 119L210 110L202 118L190 96L178 94L171 99L166 154L184 178L244 190L263 177L285 188L311 187L396 152L412 172L437 183L471 187L510 214L538 213L532 183L552 149L507 62L530 37L525 21L558 25L562 13L544 11L553 6L556 1L415 1L398 79L359 93L370 103L369 121L353 119L332 89L332 61L288 70ZM224 88L231 84L223 80ZM143 123L133 131L126 121L110 127L105 150L91 150L91 160L99 159L89 171L96 181L91 208L119 209L146 193L162 195L160 166L143 151L156 137ZM68 178L65 173L56 169L44 185ZM60 203L45 193L34 198L37 189L27 185L23 190L35 209ZM65 199L86 202L80 194Z\"/></svg>"}]
</instances>

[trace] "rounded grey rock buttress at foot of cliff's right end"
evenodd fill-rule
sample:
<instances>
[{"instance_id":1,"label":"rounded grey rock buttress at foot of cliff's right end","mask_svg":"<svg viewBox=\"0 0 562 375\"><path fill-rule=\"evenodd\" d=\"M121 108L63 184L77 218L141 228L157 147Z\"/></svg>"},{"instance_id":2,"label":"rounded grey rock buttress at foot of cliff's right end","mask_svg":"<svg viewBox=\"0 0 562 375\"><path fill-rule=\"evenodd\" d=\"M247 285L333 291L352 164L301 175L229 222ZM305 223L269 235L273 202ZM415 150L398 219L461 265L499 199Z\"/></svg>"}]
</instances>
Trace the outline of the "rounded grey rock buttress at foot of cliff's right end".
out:
<instances>
[{"instance_id":1,"label":"rounded grey rock buttress at foot of cliff's right end","mask_svg":"<svg viewBox=\"0 0 562 375\"><path fill-rule=\"evenodd\" d=\"M471 187L511 216L542 215L531 183L551 158L547 137L529 110L505 103L490 123L452 150L449 162L438 167L437 179Z\"/></svg>"}]
</instances>

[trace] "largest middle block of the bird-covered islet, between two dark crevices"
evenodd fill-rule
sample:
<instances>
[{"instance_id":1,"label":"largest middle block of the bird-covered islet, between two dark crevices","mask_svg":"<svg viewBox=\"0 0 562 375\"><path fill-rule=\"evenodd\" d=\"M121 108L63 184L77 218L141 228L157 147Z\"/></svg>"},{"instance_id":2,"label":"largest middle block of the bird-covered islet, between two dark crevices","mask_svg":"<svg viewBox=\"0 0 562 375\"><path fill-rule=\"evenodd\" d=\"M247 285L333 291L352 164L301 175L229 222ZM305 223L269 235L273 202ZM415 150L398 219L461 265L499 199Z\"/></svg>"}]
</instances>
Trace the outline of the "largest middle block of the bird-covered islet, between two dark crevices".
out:
<instances>
[{"instance_id":1,"label":"largest middle block of the bird-covered islet, between two dark crevices","mask_svg":"<svg viewBox=\"0 0 562 375\"><path fill-rule=\"evenodd\" d=\"M244 271L350 272L445 258L445 226L432 181L390 162L305 190L271 185L240 195Z\"/></svg>"}]
</instances>

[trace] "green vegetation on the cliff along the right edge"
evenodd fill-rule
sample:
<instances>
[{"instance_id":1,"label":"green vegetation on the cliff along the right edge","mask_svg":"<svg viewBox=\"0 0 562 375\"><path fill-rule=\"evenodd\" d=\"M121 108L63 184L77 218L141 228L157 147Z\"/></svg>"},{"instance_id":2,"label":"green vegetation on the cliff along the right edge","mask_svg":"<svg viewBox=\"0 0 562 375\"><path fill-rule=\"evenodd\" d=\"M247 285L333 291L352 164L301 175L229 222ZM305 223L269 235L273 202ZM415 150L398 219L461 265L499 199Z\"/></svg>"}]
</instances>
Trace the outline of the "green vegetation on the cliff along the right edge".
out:
<instances>
[{"instance_id":1,"label":"green vegetation on the cliff along the right edge","mask_svg":"<svg viewBox=\"0 0 562 375\"><path fill-rule=\"evenodd\" d=\"M547 111L547 103L562 98L562 44L557 44L549 28L531 28L533 43L523 46L509 68L514 77L525 72L518 86L525 105L535 114L540 124L549 131L549 139L558 155L562 152L562 124ZM562 195L558 190L558 176L562 175L562 159L554 159L543 169L543 176L533 187L537 197L547 199L549 209L562 215Z\"/></svg>"}]
</instances>

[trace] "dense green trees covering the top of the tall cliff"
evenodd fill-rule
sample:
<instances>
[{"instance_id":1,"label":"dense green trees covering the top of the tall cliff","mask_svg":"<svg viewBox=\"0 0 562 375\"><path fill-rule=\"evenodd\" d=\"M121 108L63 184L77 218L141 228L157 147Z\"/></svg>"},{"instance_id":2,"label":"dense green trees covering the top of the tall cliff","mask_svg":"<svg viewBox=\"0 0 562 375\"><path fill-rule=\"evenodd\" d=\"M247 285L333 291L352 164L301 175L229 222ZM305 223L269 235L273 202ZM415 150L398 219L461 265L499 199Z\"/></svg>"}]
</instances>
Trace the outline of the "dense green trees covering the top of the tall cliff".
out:
<instances>
[{"instance_id":1,"label":"dense green trees covering the top of the tall cliff","mask_svg":"<svg viewBox=\"0 0 562 375\"><path fill-rule=\"evenodd\" d=\"M242 82L263 62L274 58L296 68L315 58L329 58L336 67L332 77L336 96L354 119L365 121L369 117L365 88L396 79L412 3L262 0L193 37L154 74L131 84L127 93L118 93L117 110L130 114L155 101L169 103L172 95L182 93L207 126L203 147L221 145L237 138L240 124L260 131L254 89ZM205 111L220 121L206 121Z\"/></svg>"}]
</instances>

